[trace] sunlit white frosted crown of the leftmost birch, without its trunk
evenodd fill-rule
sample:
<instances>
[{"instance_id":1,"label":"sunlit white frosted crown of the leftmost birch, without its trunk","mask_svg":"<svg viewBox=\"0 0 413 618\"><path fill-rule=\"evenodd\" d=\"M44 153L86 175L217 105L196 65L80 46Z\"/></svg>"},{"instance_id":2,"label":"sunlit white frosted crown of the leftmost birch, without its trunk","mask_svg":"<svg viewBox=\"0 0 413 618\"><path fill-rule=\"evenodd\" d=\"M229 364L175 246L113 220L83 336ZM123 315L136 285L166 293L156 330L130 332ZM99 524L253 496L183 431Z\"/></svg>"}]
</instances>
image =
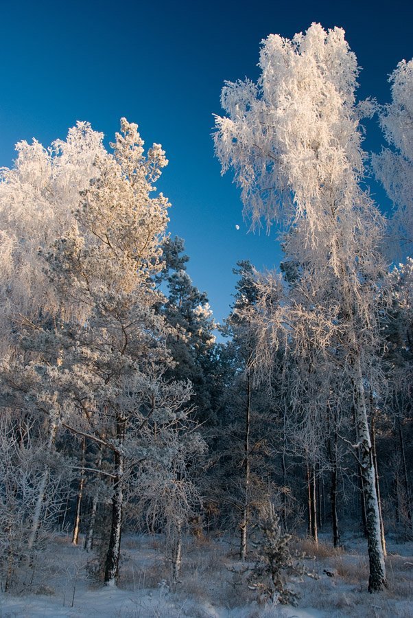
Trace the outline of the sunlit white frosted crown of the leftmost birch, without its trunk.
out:
<instances>
[{"instance_id":1,"label":"sunlit white frosted crown of the leftmost birch, without its trunk","mask_svg":"<svg viewBox=\"0 0 413 618\"><path fill-rule=\"evenodd\" d=\"M10 319L58 303L39 248L69 229L79 192L96 175L95 159L106 155L102 139L88 122L78 122L49 148L35 139L19 142L14 166L0 170L2 346L10 343Z\"/></svg>"}]
</instances>

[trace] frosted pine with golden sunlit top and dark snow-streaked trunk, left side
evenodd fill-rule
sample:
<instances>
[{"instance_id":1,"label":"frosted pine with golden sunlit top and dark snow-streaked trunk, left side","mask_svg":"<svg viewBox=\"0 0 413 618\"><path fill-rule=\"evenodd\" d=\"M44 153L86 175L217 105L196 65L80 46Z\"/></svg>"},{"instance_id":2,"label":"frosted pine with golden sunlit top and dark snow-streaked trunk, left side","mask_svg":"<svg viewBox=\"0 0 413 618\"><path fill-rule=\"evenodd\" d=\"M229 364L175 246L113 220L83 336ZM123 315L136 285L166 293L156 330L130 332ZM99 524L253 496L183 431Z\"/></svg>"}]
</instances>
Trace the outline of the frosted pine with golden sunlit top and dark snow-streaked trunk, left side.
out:
<instances>
[{"instance_id":1,"label":"frosted pine with golden sunlit top and dark snow-streaked trunk, left side","mask_svg":"<svg viewBox=\"0 0 413 618\"><path fill-rule=\"evenodd\" d=\"M10 398L23 393L102 453L104 466L89 472L109 483L107 584L117 583L123 513L139 469L163 466L174 483L189 450L194 457L202 448L188 426L190 383L164 378L168 328L155 311L161 294L152 277L161 269L168 202L152 193L165 154L154 144L144 156L137 125L126 119L112 146L114 155L95 157L70 229L41 251L58 306L46 321L19 323L25 355L2 366Z\"/></svg>"}]
</instances>

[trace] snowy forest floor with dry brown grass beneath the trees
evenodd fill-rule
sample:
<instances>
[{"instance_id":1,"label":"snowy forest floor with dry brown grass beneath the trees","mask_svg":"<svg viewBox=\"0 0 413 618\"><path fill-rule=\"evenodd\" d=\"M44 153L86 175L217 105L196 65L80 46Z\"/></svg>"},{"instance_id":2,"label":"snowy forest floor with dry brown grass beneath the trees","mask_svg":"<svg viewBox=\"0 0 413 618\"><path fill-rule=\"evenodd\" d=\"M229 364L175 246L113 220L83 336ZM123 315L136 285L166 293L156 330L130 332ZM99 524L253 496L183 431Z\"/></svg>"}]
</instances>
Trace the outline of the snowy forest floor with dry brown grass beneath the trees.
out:
<instances>
[{"instance_id":1,"label":"snowy forest floor with dry brown grass beneath the trees","mask_svg":"<svg viewBox=\"0 0 413 618\"><path fill-rule=\"evenodd\" d=\"M340 551L327 541L295 542L311 576L293 578L293 607L257 603L225 537L187 538L172 589L161 538L124 536L119 586L110 588L93 581L93 556L58 536L35 572L21 572L11 593L1 593L0 618L413 618L413 542L388 540L388 588L370 595L365 540L342 541Z\"/></svg>"}]
</instances>

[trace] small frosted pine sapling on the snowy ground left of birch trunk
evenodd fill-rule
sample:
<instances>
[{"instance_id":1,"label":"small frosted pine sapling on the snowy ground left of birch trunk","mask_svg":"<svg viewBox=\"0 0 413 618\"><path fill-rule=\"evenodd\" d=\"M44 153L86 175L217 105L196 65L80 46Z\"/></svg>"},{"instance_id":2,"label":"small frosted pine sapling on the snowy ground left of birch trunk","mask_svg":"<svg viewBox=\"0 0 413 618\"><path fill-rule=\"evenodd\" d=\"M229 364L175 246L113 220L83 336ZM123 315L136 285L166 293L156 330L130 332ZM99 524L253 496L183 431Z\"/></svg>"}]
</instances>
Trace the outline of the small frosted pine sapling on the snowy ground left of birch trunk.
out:
<instances>
[{"instance_id":1,"label":"small frosted pine sapling on the snowy ground left of birch trunk","mask_svg":"<svg viewBox=\"0 0 413 618\"><path fill-rule=\"evenodd\" d=\"M287 588L287 579L292 575L302 575L303 567L299 560L303 556L293 556L288 542L290 534L283 533L279 515L272 503L261 510L258 521L261 538L257 547L257 562L249 577L249 587L257 590L260 601L272 600L274 604L298 604L298 593Z\"/></svg>"}]
</instances>

